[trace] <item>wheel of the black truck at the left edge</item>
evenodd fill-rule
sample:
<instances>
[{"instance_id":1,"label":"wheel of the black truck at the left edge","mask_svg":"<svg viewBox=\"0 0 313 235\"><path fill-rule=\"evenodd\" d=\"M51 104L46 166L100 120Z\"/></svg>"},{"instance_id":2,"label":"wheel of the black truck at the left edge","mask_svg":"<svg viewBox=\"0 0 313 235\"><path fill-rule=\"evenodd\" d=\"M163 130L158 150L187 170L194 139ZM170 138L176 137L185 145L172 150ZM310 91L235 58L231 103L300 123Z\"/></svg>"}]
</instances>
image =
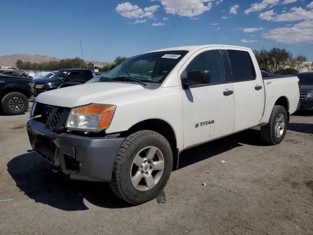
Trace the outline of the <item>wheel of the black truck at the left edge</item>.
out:
<instances>
[{"instance_id":1,"label":"wheel of the black truck at the left edge","mask_svg":"<svg viewBox=\"0 0 313 235\"><path fill-rule=\"evenodd\" d=\"M28 99L22 93L11 92L3 96L1 106L8 115L21 115L28 109Z\"/></svg>"}]
</instances>

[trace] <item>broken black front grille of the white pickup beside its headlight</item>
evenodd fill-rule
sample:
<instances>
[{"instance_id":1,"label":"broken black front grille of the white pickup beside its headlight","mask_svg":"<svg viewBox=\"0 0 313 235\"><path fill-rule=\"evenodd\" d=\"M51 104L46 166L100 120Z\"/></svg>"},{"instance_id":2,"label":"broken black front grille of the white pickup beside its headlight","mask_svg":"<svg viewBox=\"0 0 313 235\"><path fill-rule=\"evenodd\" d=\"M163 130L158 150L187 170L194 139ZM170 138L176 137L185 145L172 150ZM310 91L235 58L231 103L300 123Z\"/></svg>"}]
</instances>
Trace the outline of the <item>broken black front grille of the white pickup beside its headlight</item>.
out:
<instances>
[{"instance_id":1,"label":"broken black front grille of the white pickup beside its headlight","mask_svg":"<svg viewBox=\"0 0 313 235\"><path fill-rule=\"evenodd\" d=\"M46 129L63 131L69 111L70 108L51 106L37 102L34 117L40 115L39 120L45 124Z\"/></svg>"}]
</instances>

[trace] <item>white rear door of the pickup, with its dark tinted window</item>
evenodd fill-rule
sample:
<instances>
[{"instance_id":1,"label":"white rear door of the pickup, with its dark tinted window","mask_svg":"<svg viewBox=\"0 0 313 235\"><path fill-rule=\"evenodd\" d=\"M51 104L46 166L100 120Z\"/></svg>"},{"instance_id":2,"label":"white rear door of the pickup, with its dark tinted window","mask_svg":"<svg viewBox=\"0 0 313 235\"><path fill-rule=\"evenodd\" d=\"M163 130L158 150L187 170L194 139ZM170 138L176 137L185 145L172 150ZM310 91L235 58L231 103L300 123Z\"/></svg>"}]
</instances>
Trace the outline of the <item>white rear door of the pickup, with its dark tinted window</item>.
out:
<instances>
[{"instance_id":1,"label":"white rear door of the pickup, with its dark tinted window","mask_svg":"<svg viewBox=\"0 0 313 235\"><path fill-rule=\"evenodd\" d=\"M234 132L245 130L260 123L264 110L264 87L256 61L244 48L225 47L234 85L235 123Z\"/></svg>"}]
</instances>

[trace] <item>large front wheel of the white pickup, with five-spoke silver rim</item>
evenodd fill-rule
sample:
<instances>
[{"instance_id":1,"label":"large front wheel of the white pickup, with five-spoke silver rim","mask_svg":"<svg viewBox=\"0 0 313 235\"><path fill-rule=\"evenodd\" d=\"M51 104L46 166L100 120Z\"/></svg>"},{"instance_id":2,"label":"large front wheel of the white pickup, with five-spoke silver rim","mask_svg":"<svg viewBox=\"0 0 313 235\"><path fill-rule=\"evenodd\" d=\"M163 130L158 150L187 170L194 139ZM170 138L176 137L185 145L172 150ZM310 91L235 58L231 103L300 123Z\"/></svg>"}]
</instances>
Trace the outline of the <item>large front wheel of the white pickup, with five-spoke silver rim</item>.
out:
<instances>
[{"instance_id":1,"label":"large front wheel of the white pickup, with five-spoke silver rim","mask_svg":"<svg viewBox=\"0 0 313 235\"><path fill-rule=\"evenodd\" d=\"M169 142L157 132L138 131L128 136L118 150L109 185L122 200L134 205L145 203L165 188L172 166Z\"/></svg>"}]
</instances>

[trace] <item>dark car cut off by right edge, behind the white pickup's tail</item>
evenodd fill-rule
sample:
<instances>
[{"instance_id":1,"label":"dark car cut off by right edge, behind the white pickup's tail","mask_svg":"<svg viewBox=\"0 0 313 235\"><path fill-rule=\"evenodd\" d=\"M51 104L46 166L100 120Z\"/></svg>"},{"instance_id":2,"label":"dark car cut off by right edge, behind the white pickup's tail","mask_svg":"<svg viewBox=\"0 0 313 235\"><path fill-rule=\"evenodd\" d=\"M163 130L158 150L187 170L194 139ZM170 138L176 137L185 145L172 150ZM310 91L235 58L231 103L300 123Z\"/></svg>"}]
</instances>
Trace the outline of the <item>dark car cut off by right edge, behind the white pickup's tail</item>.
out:
<instances>
[{"instance_id":1,"label":"dark car cut off by right edge, behind the white pickup's tail","mask_svg":"<svg viewBox=\"0 0 313 235\"><path fill-rule=\"evenodd\" d=\"M300 109L313 108L313 72L298 72L294 74L300 80Z\"/></svg>"}]
</instances>

